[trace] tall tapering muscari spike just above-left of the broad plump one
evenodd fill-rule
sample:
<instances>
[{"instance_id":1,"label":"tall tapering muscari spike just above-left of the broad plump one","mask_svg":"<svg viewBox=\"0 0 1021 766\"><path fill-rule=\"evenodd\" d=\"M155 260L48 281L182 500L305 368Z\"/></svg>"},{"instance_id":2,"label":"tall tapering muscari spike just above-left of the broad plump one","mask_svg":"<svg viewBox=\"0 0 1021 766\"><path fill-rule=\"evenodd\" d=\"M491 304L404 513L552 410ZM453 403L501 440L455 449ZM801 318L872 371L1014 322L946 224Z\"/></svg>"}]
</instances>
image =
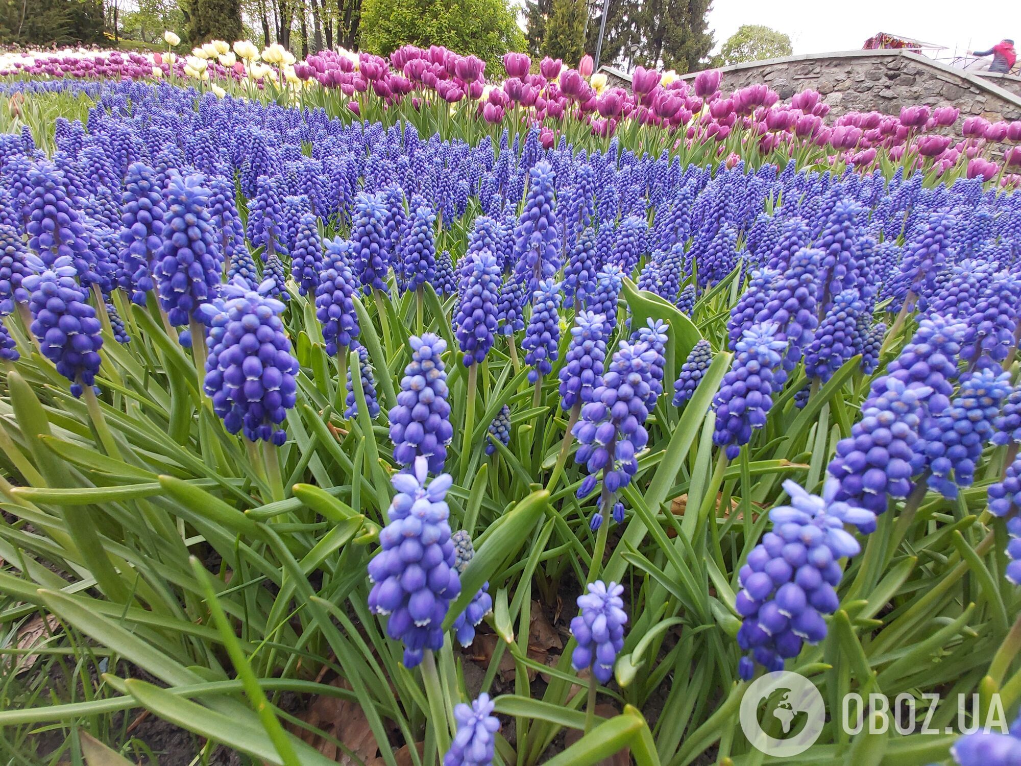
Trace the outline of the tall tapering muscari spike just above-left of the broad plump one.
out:
<instances>
[{"instance_id":1,"label":"tall tapering muscari spike just above-left of the broad plump one","mask_svg":"<svg viewBox=\"0 0 1021 766\"><path fill-rule=\"evenodd\" d=\"M223 258L209 224L207 201L208 191L199 176L175 178L167 190L163 241L152 272L172 325L187 325L220 289Z\"/></svg>"}]
</instances>

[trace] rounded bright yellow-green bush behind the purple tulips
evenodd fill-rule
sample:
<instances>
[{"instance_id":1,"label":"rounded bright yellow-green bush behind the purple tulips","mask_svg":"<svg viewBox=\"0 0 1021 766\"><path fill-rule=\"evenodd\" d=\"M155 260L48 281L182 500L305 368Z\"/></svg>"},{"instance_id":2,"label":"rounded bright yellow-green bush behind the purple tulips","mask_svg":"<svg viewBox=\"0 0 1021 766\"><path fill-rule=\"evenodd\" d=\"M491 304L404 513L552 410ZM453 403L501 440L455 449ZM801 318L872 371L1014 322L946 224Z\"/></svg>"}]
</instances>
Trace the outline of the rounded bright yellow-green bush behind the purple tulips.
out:
<instances>
[{"instance_id":1,"label":"rounded bright yellow-green bush behind the purple tulips","mask_svg":"<svg viewBox=\"0 0 1021 766\"><path fill-rule=\"evenodd\" d=\"M364 0L362 50L388 55L406 44L445 45L493 66L525 40L504 0Z\"/></svg>"}]
</instances>

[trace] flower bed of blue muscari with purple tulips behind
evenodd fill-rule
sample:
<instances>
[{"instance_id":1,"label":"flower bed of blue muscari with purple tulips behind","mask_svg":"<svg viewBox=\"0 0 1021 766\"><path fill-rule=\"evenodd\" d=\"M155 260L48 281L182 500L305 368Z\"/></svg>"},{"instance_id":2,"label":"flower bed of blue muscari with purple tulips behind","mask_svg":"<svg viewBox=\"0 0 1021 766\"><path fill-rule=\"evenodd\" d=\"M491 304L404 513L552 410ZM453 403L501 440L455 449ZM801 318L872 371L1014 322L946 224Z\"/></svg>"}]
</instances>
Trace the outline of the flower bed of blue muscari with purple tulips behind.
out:
<instances>
[{"instance_id":1,"label":"flower bed of blue muscari with purple tulips behind","mask_svg":"<svg viewBox=\"0 0 1021 766\"><path fill-rule=\"evenodd\" d=\"M943 166L953 111L514 54L483 97L438 55L6 84L0 609L53 633L4 671L17 747L131 755L145 709L323 763L335 700L387 766L762 762L786 670L804 758L1015 763L1012 128ZM945 699L856 729L852 692Z\"/></svg>"}]
</instances>

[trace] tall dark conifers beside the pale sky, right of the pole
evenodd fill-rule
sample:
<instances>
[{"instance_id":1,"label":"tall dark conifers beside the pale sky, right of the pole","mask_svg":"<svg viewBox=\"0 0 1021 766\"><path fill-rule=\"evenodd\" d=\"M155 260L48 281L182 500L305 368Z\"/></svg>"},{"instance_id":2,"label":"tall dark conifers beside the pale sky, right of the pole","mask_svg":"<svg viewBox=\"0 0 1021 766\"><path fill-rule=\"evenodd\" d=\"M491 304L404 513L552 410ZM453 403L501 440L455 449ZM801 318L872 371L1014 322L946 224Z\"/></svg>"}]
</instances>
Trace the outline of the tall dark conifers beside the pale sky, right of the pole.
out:
<instances>
[{"instance_id":1,"label":"tall dark conifers beside the pale sky, right of the pole","mask_svg":"<svg viewBox=\"0 0 1021 766\"><path fill-rule=\"evenodd\" d=\"M630 62L681 74L699 68L713 47L706 25L709 7L709 0L610 0L600 63ZM595 50L600 20L597 13L589 21L586 50Z\"/></svg>"}]
</instances>

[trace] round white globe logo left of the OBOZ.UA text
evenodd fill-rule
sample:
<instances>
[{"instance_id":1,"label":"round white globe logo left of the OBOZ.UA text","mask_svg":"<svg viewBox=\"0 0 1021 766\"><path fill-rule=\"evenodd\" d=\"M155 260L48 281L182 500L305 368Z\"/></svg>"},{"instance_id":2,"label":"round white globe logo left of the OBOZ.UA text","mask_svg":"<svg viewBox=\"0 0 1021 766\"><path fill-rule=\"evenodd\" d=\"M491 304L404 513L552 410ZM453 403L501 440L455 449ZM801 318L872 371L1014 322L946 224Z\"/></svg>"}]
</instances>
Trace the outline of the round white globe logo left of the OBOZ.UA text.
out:
<instances>
[{"instance_id":1,"label":"round white globe logo left of the OBOZ.UA text","mask_svg":"<svg viewBox=\"0 0 1021 766\"><path fill-rule=\"evenodd\" d=\"M792 758L819 738L826 722L826 705L808 678L778 670L752 681L741 698L739 718L753 748L774 758Z\"/></svg>"}]
</instances>

